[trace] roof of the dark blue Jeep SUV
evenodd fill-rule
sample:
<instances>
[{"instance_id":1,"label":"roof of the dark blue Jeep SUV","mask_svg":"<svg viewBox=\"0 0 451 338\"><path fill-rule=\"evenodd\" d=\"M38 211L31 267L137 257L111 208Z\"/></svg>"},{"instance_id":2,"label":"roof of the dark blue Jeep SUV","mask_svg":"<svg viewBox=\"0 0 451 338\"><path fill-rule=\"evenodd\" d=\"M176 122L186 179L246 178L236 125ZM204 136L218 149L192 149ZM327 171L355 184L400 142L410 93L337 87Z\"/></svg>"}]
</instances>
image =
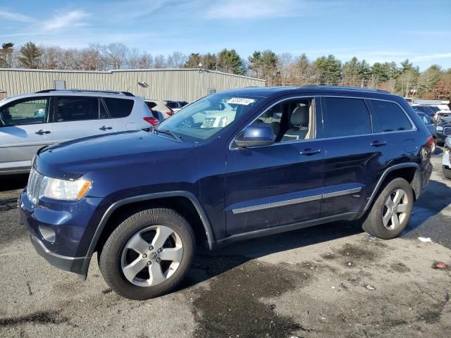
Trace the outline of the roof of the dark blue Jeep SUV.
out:
<instances>
[{"instance_id":1,"label":"roof of the dark blue Jeep SUV","mask_svg":"<svg viewBox=\"0 0 451 338\"><path fill-rule=\"evenodd\" d=\"M307 85L302 87L245 87L240 89L231 89L221 93L230 93L247 96L268 97L273 94L311 94L311 93L335 93L335 94L385 94L393 95L390 92L381 89L344 87L344 86L326 86L326 85Z\"/></svg>"}]
</instances>

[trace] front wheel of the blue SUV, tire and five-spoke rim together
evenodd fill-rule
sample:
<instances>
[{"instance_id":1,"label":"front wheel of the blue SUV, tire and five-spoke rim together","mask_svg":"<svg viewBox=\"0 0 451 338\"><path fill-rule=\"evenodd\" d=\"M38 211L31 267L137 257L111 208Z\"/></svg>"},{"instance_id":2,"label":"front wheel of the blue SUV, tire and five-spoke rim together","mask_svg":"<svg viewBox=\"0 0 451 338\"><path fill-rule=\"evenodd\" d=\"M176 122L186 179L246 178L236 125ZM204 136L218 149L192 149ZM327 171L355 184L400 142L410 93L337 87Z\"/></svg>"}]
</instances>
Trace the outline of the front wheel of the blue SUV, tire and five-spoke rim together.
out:
<instances>
[{"instance_id":1,"label":"front wheel of the blue SUV, tire and five-spoke rim together","mask_svg":"<svg viewBox=\"0 0 451 338\"><path fill-rule=\"evenodd\" d=\"M135 213L106 240L99 267L106 284L129 299L166 294L185 277L195 239L185 218L171 209Z\"/></svg>"}]
</instances>

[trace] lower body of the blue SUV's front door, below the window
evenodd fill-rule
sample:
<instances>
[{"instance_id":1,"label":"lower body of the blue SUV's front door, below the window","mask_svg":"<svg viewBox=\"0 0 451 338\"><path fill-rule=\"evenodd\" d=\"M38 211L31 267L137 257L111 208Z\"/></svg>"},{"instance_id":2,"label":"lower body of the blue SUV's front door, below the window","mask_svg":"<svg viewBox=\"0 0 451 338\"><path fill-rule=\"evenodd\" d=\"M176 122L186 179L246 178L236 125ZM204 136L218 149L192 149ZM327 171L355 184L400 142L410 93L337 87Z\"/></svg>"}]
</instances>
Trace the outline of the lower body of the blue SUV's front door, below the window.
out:
<instances>
[{"instance_id":1,"label":"lower body of the blue SUV's front door, below the window","mask_svg":"<svg viewBox=\"0 0 451 338\"><path fill-rule=\"evenodd\" d=\"M308 145L307 145L308 144ZM318 217L323 140L274 144L230 151L226 166L226 220L229 234L297 223Z\"/></svg>"}]
</instances>

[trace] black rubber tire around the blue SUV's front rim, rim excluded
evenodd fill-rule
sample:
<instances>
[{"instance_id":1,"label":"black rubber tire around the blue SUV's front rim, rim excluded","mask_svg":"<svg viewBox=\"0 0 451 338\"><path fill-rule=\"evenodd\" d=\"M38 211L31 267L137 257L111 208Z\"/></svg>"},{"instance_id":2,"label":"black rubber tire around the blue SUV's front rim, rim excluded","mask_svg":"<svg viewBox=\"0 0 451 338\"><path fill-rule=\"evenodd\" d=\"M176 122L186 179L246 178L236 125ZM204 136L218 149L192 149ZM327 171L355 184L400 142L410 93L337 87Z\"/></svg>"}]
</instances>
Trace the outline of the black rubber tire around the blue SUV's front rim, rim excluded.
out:
<instances>
[{"instance_id":1,"label":"black rubber tire around the blue SUV's front rim, rim excluded","mask_svg":"<svg viewBox=\"0 0 451 338\"><path fill-rule=\"evenodd\" d=\"M137 286L123 273L123 251L138 232L157 225L169 227L178 234L183 244L183 256L175 272L161 284ZM117 294L128 299L151 299L170 292L183 280L190 268L195 247L194 232L183 216L166 208L144 210L131 215L111 233L101 250L99 268L106 284Z\"/></svg>"}]
</instances>

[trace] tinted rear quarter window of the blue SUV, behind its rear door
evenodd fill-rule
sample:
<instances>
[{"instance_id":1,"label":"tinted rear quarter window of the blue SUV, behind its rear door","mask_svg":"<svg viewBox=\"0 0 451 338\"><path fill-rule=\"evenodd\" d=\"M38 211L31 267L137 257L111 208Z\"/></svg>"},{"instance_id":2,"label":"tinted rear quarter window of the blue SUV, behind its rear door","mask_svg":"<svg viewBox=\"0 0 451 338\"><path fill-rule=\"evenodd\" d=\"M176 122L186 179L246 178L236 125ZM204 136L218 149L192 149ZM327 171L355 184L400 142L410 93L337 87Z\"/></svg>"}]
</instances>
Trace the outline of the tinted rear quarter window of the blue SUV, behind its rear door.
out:
<instances>
[{"instance_id":1,"label":"tinted rear quarter window of the blue SUV, behind its rear door","mask_svg":"<svg viewBox=\"0 0 451 338\"><path fill-rule=\"evenodd\" d=\"M395 102L370 99L373 132L399 132L412 130L406 113Z\"/></svg>"}]
</instances>

